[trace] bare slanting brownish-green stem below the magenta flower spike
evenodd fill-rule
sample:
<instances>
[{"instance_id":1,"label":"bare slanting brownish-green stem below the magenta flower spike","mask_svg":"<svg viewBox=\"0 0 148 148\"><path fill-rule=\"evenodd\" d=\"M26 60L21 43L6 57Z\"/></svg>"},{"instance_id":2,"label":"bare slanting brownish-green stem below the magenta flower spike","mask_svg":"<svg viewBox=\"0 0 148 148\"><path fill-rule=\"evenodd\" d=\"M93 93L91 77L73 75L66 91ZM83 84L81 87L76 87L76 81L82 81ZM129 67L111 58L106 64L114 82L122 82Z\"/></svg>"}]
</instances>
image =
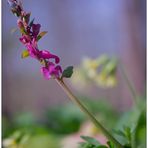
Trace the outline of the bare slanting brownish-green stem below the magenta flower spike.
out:
<instances>
[{"instance_id":1,"label":"bare slanting brownish-green stem below the magenta flower spike","mask_svg":"<svg viewBox=\"0 0 148 148\"><path fill-rule=\"evenodd\" d=\"M67 87L67 85L64 83L64 81L62 79L58 79L58 78L55 80L62 87L64 92L67 94L67 96L78 105L78 107L90 118L90 120L96 125L96 127L99 128L102 131L102 133L117 146L117 148L123 148L123 146L87 110L87 108L79 101L79 99L77 99L76 96L73 95L73 93Z\"/></svg>"}]
</instances>

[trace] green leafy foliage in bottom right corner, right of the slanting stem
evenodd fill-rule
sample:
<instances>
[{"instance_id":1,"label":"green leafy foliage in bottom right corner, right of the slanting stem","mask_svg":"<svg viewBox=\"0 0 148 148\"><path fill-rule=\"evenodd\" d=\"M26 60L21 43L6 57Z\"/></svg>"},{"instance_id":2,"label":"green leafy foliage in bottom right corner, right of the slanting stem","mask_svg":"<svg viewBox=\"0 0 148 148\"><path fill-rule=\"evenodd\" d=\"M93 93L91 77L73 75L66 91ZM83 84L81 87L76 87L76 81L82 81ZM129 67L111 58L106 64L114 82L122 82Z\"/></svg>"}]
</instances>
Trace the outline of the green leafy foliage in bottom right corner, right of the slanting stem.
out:
<instances>
[{"instance_id":1,"label":"green leafy foliage in bottom right corner, right of the slanting stem","mask_svg":"<svg viewBox=\"0 0 148 148\"><path fill-rule=\"evenodd\" d=\"M146 147L146 105L143 98L137 106L125 112L116 125L116 138L128 147Z\"/></svg>"}]
</instances>

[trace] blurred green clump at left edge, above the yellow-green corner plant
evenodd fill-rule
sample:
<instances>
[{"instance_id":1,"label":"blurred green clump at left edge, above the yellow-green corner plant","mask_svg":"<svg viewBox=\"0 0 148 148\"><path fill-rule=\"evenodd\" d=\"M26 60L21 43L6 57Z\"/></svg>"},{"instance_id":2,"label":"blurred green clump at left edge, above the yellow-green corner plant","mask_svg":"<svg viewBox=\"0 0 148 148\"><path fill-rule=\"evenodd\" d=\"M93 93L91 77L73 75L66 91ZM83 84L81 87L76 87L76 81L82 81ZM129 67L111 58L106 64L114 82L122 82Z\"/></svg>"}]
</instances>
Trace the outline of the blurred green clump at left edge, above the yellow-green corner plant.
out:
<instances>
[{"instance_id":1,"label":"blurred green clump at left edge, above the yellow-green corner plant","mask_svg":"<svg viewBox=\"0 0 148 148\"><path fill-rule=\"evenodd\" d=\"M3 117L2 137L6 138L15 131L29 132L31 134L47 134L49 129L40 124L30 112L16 114L12 119Z\"/></svg>"}]
</instances>

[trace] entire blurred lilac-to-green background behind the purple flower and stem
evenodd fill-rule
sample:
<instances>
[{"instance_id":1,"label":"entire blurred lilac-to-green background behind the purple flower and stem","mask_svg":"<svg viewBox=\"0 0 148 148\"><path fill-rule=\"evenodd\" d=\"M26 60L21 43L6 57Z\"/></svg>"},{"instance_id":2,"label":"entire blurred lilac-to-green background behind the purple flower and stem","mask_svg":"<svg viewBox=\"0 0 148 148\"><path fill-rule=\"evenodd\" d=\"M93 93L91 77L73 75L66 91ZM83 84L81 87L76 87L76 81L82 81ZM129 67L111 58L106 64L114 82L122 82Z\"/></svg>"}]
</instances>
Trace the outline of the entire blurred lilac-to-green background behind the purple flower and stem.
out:
<instances>
[{"instance_id":1,"label":"entire blurred lilac-to-green background behind the purple flower and stem","mask_svg":"<svg viewBox=\"0 0 148 148\"><path fill-rule=\"evenodd\" d=\"M58 55L63 69L73 65L75 73L84 57L95 59L102 54L122 63L141 100L139 104L143 104L140 109L134 106L120 64L118 85L113 88L89 83L82 87L81 81L76 84L73 79L66 83L107 129L133 127L136 123L135 141L144 148L146 0L24 0L23 6L32 13L35 23L42 25L41 30L48 31L39 42L40 49ZM80 135L96 136L105 142L102 133L96 134L95 127L57 83L44 79L36 60L21 59L24 47L18 39L19 31L12 33L16 21L6 0L2 0L2 117L3 138L8 138L5 144L29 139L26 148L59 148L59 143L64 148L76 148ZM30 138L26 138L28 135Z\"/></svg>"}]
</instances>

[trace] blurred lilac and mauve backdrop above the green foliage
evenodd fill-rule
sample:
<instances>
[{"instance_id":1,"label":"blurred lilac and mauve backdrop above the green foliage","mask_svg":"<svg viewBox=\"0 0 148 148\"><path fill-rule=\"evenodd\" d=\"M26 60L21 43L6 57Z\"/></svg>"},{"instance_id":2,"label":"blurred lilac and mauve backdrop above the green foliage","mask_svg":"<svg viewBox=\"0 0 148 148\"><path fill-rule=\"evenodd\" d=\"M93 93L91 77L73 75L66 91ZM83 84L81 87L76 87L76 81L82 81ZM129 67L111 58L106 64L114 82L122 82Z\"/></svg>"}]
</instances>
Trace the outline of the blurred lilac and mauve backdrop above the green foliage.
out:
<instances>
[{"instance_id":1,"label":"blurred lilac and mauve backdrop above the green foliage","mask_svg":"<svg viewBox=\"0 0 148 148\"><path fill-rule=\"evenodd\" d=\"M117 57L139 95L146 87L146 1L145 0L25 0L24 9L48 34L39 42L61 58L63 68L77 67L82 58L102 54ZM21 59L24 49L19 32L11 33L17 18L2 0L2 111L13 119L29 112L42 121L45 111L69 102L54 80L47 81L40 64ZM113 88L92 86L84 89L68 85L80 98L109 102L117 112L133 105L132 96L118 71L118 85ZM81 83L81 82L80 82Z\"/></svg>"}]
</instances>

